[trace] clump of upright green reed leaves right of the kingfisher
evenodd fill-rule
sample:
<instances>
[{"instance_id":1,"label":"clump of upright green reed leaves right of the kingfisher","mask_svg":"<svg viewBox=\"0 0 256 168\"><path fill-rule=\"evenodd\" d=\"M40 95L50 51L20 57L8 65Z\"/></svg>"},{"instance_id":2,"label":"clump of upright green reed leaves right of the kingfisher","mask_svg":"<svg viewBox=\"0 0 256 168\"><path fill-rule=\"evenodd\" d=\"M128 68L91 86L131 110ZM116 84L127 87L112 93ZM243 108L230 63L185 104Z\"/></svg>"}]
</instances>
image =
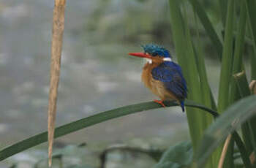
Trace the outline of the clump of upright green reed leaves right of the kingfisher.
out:
<instances>
[{"instance_id":1,"label":"clump of upright green reed leaves right of the kingfisher","mask_svg":"<svg viewBox=\"0 0 256 168\"><path fill-rule=\"evenodd\" d=\"M192 9L195 12L195 15L193 15L194 18L192 18L191 20L195 20L195 25L198 25L199 23L197 22L197 20L200 20L200 23L206 29L206 34L211 39L212 45L214 45L214 47L217 49L217 53L221 55L219 56L221 73L219 77L219 95L217 110L219 113L222 113L225 112L227 107L229 107L235 101L241 99L241 97L244 97L239 95L238 93L238 86L234 83L233 73L241 71L241 69L245 67L242 61L242 56L244 55L244 46L246 46L246 42L244 41L244 34L250 34L250 31L245 31L245 3L244 1L239 1L239 3L236 3L234 0L219 1L218 8L221 13L219 24L222 25L222 27L219 28L216 23L211 22L211 19L209 19L209 15L202 7L203 3L201 1L190 0L189 2L192 4ZM211 88L207 83L208 74L202 73L206 70L205 61L203 60L205 56L201 50L202 45L196 45L197 43L200 43L200 39L193 38L190 26L188 24L188 20L191 16L189 16L189 12L187 12L189 11L187 1L181 2L177 0L169 0L169 3L173 41L176 48L178 63L184 70L184 76L189 85L188 88L190 88L191 91L189 94L189 99L193 99L196 102L201 102L215 109L216 106L211 93ZM255 9L255 4L252 1L247 1L247 3L251 4L250 7L247 7L247 13L249 14L248 16L249 18L254 18L252 17L252 15L250 15L248 9ZM236 22L235 18L239 18L239 21ZM253 25L254 23L250 24L249 29L253 30ZM197 37L199 37L198 31L199 30L197 29ZM236 36L234 36L234 32L236 32ZM217 34L219 35L219 37L217 36ZM236 42L235 45L234 42ZM184 48L186 48L186 50L184 50ZM253 46L250 46L250 48L255 50L255 47ZM234 52L236 60L234 60ZM252 53L252 51L250 53L252 54L252 56L255 56L255 53ZM189 62L189 64L187 64L187 62ZM197 68L194 67L195 65L197 66ZM252 67L253 66L255 65L252 65ZM246 75L244 75L244 80L246 80ZM232 93L230 92L231 86L233 87L231 90ZM242 87L240 88L247 88L248 90L248 83L243 83ZM205 130L211 124L211 120L209 120L210 118L208 118L206 115L199 112L198 110L193 111L189 108L187 108L187 118L189 123L190 136L192 139L192 146L193 149L197 151L198 144L200 144L201 138L203 137L203 134L205 134ZM249 121L249 123L254 122ZM219 126L222 125L220 124ZM255 126L249 124L245 127L243 125L242 132L244 135L244 141L250 141L253 144L255 140L253 140L251 137L254 137L255 133L253 131L254 129L250 129L250 127L254 128ZM225 137L222 136L222 138ZM244 148L244 144L237 133L233 134L233 139L231 140L227 153L225 154L225 167L233 167L234 165L233 140L236 141L236 145L238 145L239 147L239 150L241 152L241 158L244 161L245 167L250 167L250 164L248 164L249 155L247 151L245 151L246 148ZM203 165L203 167L217 167L220 161L221 153L222 145L219 145L219 148L216 150L216 152L213 153L213 155L209 155L211 156L211 159L208 159L207 164Z\"/></svg>"}]
</instances>

